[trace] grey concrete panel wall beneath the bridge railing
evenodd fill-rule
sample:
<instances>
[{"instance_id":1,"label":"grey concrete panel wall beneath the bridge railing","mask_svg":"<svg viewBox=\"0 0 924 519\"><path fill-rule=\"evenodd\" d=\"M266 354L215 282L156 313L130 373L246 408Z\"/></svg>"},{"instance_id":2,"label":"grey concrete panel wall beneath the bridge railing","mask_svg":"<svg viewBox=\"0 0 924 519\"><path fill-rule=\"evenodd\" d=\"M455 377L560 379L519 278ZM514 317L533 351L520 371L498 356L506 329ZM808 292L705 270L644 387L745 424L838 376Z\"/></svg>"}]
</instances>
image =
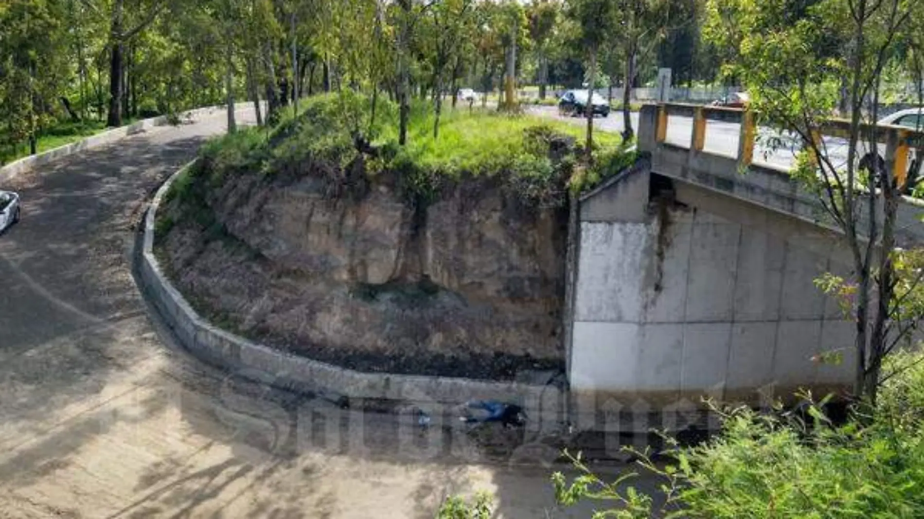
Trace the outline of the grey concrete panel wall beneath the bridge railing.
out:
<instances>
[{"instance_id":1,"label":"grey concrete panel wall beneath the bridge railing","mask_svg":"<svg viewBox=\"0 0 924 519\"><path fill-rule=\"evenodd\" d=\"M836 237L681 181L639 207L652 185L638 172L582 207L572 392L759 405L849 387L853 323L813 283L846 272ZM829 351L844 361L813 360Z\"/></svg>"}]
</instances>

